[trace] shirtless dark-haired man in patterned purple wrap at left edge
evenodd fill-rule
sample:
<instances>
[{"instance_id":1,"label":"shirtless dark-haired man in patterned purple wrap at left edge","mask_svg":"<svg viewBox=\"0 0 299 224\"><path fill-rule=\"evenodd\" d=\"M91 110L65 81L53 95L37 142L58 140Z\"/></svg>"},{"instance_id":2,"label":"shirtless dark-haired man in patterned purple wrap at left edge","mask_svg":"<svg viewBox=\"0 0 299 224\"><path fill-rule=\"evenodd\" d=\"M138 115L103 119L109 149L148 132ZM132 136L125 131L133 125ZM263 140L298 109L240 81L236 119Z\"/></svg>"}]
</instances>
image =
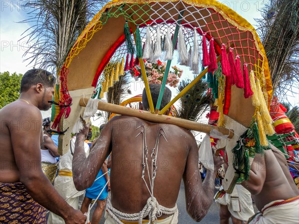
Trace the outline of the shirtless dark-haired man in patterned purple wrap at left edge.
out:
<instances>
[{"instance_id":1,"label":"shirtless dark-haired man in patterned purple wrap at left edge","mask_svg":"<svg viewBox=\"0 0 299 224\"><path fill-rule=\"evenodd\" d=\"M54 85L49 72L29 70L19 99L0 110L0 223L45 224L45 208L66 224L85 223L86 217L59 196L41 170L40 110L51 108Z\"/></svg>"}]
</instances>

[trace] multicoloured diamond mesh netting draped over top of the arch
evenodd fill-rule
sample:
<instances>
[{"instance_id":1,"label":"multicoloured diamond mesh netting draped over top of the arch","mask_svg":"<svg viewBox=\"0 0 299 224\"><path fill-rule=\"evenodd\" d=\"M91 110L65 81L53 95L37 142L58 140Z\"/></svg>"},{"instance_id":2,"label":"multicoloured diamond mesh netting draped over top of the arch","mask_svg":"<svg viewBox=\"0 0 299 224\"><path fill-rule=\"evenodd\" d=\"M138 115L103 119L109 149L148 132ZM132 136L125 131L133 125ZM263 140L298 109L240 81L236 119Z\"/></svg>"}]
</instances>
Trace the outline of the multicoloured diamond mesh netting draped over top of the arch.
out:
<instances>
[{"instance_id":1,"label":"multicoloured diamond mesh netting draped over top of the arch","mask_svg":"<svg viewBox=\"0 0 299 224\"><path fill-rule=\"evenodd\" d=\"M215 47L218 54L220 53L220 46L222 43L233 46L234 57L239 55L240 60L246 62L248 64L248 69L253 70L256 77L262 81L262 89L265 98L267 99L268 96L265 89L266 83L262 69L264 59L256 41L256 36L252 34L251 29L240 26L214 5L210 5L209 7L206 6L207 5L204 4L183 4L182 1L152 2L145 4L123 3L106 9L105 12L101 14L100 22L102 25L105 25L111 17L123 16L131 26L134 24L140 27L143 44L146 40L146 28L147 25L149 25L153 45L156 41L156 29L159 26L163 47L163 40L165 39L168 25L170 25L170 33L173 37L175 26L178 25L179 14L183 11L181 25L183 26L182 30L187 50L190 52L194 45L194 27L199 34L197 41L201 56L203 33L207 34L208 40L213 38L217 42ZM132 39L134 39L133 34ZM134 47L136 47L134 41L133 44ZM117 48L114 55L111 57L110 62L116 63L123 58L126 60L127 52L126 43L123 43ZM111 72L112 69L113 67L111 64L107 65L105 68L105 70L108 71L107 73ZM104 80L105 78L101 79Z\"/></svg>"}]
</instances>

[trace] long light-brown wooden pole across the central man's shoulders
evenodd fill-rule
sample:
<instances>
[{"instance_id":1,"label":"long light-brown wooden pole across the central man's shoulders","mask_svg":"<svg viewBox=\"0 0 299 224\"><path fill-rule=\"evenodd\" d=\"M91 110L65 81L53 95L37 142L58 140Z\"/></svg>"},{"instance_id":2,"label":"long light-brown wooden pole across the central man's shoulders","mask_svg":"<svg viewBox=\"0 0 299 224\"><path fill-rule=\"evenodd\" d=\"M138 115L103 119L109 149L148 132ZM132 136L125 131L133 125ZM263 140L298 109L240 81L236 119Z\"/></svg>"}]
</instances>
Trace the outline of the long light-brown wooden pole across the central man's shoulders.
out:
<instances>
[{"instance_id":1,"label":"long light-brown wooden pole across the central man's shoulders","mask_svg":"<svg viewBox=\"0 0 299 224\"><path fill-rule=\"evenodd\" d=\"M81 98L80 99L80 106L86 107L88 98ZM135 116L144 120L157 122L157 123L167 123L167 124L174 124L179 127L183 127L190 130L200 131L204 132L206 134L209 134L212 129L217 129L219 132L221 132L223 135L228 135L228 138L232 138L234 136L233 130L229 130L224 127L217 127L210 124L195 122L192 120L185 120L173 116L167 116L167 115L160 115L160 114L153 114L147 111L141 111L136 110L133 108L127 108L120 105L105 103L100 101L98 103L98 110L106 111L106 112L112 112L112 113L118 113L122 115L128 115L128 116Z\"/></svg>"}]
</instances>

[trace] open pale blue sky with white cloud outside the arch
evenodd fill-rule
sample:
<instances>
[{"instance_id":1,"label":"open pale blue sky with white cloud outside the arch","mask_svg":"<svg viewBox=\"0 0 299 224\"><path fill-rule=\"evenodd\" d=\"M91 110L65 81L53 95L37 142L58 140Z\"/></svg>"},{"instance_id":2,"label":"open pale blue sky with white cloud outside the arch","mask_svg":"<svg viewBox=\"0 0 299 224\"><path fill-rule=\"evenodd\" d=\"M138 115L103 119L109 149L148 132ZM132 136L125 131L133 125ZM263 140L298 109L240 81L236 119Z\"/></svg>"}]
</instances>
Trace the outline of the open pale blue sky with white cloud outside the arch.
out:
<instances>
[{"instance_id":1,"label":"open pale blue sky with white cloud outside the arch","mask_svg":"<svg viewBox=\"0 0 299 224\"><path fill-rule=\"evenodd\" d=\"M223 4L235 10L254 27L255 18L261 18L259 11L269 0L219 0ZM22 57L26 47L30 44L26 39L20 40L21 34L28 28L28 23L18 23L28 18L29 8L23 7L20 0L0 0L0 72L24 73L34 64L28 65ZM298 92L298 91L297 91ZM289 96L292 103L299 104L299 97Z\"/></svg>"}]
</instances>

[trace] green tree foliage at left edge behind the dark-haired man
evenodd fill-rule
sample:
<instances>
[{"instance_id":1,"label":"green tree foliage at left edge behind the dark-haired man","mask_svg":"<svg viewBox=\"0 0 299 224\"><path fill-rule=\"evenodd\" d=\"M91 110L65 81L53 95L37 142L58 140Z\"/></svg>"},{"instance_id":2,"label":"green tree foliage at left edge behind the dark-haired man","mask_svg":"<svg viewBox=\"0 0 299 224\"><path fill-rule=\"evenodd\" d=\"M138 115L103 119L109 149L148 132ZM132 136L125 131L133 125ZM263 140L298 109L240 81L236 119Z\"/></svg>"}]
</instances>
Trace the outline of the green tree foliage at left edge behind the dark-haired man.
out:
<instances>
[{"instance_id":1,"label":"green tree foliage at left edge behind the dark-haired man","mask_svg":"<svg viewBox=\"0 0 299 224\"><path fill-rule=\"evenodd\" d=\"M18 99L22 74L0 73L0 108Z\"/></svg>"}]
</instances>

